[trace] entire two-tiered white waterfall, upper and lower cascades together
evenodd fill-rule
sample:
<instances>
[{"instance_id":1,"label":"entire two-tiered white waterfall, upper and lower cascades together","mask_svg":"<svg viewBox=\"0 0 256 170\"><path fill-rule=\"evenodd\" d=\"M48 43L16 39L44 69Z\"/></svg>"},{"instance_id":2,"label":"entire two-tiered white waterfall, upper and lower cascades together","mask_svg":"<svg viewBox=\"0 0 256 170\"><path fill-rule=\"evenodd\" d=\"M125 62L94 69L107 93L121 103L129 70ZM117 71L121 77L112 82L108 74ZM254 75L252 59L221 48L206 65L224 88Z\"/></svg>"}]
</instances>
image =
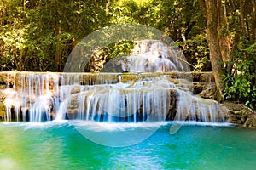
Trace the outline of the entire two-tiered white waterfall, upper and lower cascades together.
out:
<instances>
[{"instance_id":1,"label":"entire two-tiered white waterfall, upper and lower cascades together","mask_svg":"<svg viewBox=\"0 0 256 170\"><path fill-rule=\"evenodd\" d=\"M137 42L124 71L164 73L10 73L3 90L5 122L83 120L94 122L162 122L191 120L225 122L218 102L189 91L186 76L172 48L159 41ZM184 73L183 75L188 75ZM8 76L7 76L8 77Z\"/></svg>"}]
</instances>

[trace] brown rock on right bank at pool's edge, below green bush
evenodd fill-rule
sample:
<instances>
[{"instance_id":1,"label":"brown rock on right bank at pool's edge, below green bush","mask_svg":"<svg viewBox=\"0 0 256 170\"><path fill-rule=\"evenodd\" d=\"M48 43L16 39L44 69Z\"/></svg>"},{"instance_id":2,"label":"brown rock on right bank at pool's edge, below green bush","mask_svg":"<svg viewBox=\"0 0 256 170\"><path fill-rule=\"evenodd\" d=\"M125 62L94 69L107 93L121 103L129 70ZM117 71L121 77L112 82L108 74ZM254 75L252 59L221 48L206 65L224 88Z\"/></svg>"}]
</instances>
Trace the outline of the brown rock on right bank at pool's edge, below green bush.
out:
<instances>
[{"instance_id":1,"label":"brown rock on right bank at pool's edge, below green bush","mask_svg":"<svg viewBox=\"0 0 256 170\"><path fill-rule=\"evenodd\" d=\"M221 104L221 109L224 113L229 114L230 123L256 128L256 112L247 106L225 101Z\"/></svg>"}]
</instances>

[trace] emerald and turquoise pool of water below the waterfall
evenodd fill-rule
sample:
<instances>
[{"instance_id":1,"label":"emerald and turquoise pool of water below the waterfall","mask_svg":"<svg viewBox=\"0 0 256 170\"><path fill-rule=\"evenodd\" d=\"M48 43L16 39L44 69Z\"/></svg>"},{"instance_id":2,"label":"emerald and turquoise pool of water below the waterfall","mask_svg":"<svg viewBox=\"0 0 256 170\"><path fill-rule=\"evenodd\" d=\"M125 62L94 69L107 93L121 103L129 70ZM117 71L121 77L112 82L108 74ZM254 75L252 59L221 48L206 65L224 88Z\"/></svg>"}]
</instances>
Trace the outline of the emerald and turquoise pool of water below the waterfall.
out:
<instances>
[{"instance_id":1,"label":"emerald and turquoise pool of water below the waterfall","mask_svg":"<svg viewBox=\"0 0 256 170\"><path fill-rule=\"evenodd\" d=\"M190 124L170 135L170 127L138 144L108 147L68 122L0 123L0 169L255 169L255 130Z\"/></svg>"}]
</instances>

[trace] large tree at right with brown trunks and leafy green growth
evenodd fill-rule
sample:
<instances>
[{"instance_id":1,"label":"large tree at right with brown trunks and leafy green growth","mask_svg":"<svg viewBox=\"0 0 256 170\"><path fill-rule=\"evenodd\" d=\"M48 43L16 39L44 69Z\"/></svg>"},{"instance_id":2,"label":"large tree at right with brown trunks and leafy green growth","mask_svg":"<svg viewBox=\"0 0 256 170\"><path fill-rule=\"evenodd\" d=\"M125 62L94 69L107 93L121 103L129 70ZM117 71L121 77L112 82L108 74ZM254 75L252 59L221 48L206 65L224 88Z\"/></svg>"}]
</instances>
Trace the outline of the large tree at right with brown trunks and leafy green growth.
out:
<instances>
[{"instance_id":1,"label":"large tree at right with brown trunks and leafy green growth","mask_svg":"<svg viewBox=\"0 0 256 170\"><path fill-rule=\"evenodd\" d=\"M255 109L255 1L198 2L207 18L207 41L218 92L224 92L225 99Z\"/></svg>"}]
</instances>

